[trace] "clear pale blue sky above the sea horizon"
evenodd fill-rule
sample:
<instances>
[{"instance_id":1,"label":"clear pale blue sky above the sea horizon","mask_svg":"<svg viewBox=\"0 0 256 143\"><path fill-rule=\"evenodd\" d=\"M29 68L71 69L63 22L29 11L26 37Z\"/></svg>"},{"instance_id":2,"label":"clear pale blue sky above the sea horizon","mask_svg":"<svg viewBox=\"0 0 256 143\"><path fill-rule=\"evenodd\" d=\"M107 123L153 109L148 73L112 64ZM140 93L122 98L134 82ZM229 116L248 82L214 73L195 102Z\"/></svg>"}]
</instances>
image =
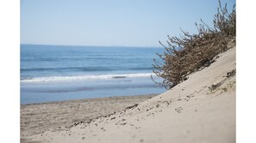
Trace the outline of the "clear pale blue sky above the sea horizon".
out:
<instances>
[{"instance_id":1,"label":"clear pale blue sky above the sea horizon","mask_svg":"<svg viewBox=\"0 0 256 143\"><path fill-rule=\"evenodd\" d=\"M229 9L235 0L223 0ZM21 0L21 44L160 46L212 25L217 0Z\"/></svg>"}]
</instances>

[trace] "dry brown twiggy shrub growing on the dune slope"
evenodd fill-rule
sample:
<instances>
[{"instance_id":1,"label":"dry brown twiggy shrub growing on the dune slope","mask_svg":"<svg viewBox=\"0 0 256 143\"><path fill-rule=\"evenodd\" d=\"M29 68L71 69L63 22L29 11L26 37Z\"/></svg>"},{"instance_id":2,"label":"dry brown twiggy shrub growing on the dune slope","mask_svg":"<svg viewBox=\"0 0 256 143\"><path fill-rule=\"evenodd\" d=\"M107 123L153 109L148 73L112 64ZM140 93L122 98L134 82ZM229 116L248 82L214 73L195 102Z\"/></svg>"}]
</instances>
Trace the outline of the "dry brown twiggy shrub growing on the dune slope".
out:
<instances>
[{"instance_id":1,"label":"dry brown twiggy shrub growing on the dune slope","mask_svg":"<svg viewBox=\"0 0 256 143\"><path fill-rule=\"evenodd\" d=\"M196 23L197 34L181 30L183 35L180 37L168 35L167 46L159 42L165 47L165 52L162 55L157 54L161 59L160 62L153 59L155 68L153 73L164 80L162 83L155 83L171 89L186 80L189 74L209 66L218 54L232 48L228 43L230 41L235 43L235 18L235 6L232 12L228 13L227 3L222 8L222 3L219 1L219 8L213 20L214 28L201 20L201 24Z\"/></svg>"}]
</instances>

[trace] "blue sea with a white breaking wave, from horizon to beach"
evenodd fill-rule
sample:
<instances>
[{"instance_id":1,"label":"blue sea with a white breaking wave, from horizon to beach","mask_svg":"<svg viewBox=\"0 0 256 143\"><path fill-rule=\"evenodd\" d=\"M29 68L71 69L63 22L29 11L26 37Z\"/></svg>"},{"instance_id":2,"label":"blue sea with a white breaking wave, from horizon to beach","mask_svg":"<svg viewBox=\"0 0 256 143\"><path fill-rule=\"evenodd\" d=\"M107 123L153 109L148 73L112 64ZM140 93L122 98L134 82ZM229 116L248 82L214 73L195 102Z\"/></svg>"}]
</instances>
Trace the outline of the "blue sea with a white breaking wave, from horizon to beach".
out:
<instances>
[{"instance_id":1,"label":"blue sea with a white breaking wave, from horizon to beach","mask_svg":"<svg viewBox=\"0 0 256 143\"><path fill-rule=\"evenodd\" d=\"M21 45L21 104L165 92L151 80L153 58L162 52L150 47Z\"/></svg>"}]
</instances>

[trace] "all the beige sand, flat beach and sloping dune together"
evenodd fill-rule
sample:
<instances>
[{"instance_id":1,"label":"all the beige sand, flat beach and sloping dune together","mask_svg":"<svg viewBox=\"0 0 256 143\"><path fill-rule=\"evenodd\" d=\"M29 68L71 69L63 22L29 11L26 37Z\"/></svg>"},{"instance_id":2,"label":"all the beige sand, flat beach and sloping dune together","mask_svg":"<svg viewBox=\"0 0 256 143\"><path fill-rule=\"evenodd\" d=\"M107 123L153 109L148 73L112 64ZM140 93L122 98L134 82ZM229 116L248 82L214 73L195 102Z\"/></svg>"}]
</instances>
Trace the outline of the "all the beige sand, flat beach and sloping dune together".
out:
<instances>
[{"instance_id":1,"label":"all the beige sand, flat beach and sloping dune together","mask_svg":"<svg viewBox=\"0 0 256 143\"><path fill-rule=\"evenodd\" d=\"M153 98L24 105L22 142L233 143L235 83L233 48Z\"/></svg>"}]
</instances>

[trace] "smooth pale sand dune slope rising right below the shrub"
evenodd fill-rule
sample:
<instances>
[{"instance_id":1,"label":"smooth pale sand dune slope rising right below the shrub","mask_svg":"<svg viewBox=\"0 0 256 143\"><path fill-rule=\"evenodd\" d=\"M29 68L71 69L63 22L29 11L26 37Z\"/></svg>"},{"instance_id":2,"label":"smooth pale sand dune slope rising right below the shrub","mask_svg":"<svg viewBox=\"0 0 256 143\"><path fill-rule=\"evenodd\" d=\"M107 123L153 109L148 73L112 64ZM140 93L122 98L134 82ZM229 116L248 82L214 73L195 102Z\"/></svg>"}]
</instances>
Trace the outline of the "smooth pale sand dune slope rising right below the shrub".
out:
<instances>
[{"instance_id":1,"label":"smooth pale sand dune slope rising right below the shrub","mask_svg":"<svg viewBox=\"0 0 256 143\"><path fill-rule=\"evenodd\" d=\"M191 74L188 80L172 90L154 98L89 122L48 129L28 139L59 143L234 143L236 80L233 70L235 48L222 53L215 63ZM78 114L83 116L83 113Z\"/></svg>"}]
</instances>

